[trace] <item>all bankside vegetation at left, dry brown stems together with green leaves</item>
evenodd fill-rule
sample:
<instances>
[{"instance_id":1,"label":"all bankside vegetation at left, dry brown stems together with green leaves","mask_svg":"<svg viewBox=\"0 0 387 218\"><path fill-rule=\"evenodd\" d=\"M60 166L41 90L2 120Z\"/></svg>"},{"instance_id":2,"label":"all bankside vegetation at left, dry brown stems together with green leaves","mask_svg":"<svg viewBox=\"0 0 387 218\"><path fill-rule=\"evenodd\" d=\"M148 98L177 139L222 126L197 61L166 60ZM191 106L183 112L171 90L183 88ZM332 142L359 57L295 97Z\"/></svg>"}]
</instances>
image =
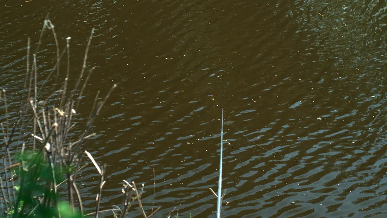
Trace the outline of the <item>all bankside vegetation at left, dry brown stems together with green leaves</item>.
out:
<instances>
[{"instance_id":1,"label":"all bankside vegetation at left, dry brown stems together with green leaves","mask_svg":"<svg viewBox=\"0 0 387 218\"><path fill-rule=\"evenodd\" d=\"M46 33L46 32L51 32ZM144 184L123 180L123 205L113 209L100 210L103 186L106 183L106 164L100 166L87 151L86 139L93 137L91 127L93 121L103 110L106 101L117 87L114 84L104 97L98 91L87 118L86 127L82 131L74 131L79 127L76 122L80 115L77 112L87 81L95 67L87 67L87 55L94 34L91 31L86 46L82 69L74 88L68 87L70 72L70 41L66 38L66 46L60 52L55 27L46 16L41 29L39 42L35 52L31 52L31 39L27 42L26 74L20 100L17 119L10 122L9 104L6 90L0 96L0 108L5 112L1 123L3 142L0 164L0 202L2 217L7 218L81 218L98 217L101 212L112 211L115 217L126 218L131 202L136 201L145 218L152 217L161 207L152 211L144 211L141 196ZM43 38L53 37L56 45L57 60L44 81L38 83L38 52ZM32 54L31 54L32 53ZM67 60L66 60L67 58ZM64 64L63 64L64 62ZM58 83L50 83L50 79L59 78L60 67L64 67L66 77ZM85 74L87 74L85 76ZM42 90L51 92L48 97L41 94ZM30 132L29 129L33 131ZM70 137L71 135L71 137ZM75 138L75 140L74 140ZM91 162L99 174L98 191L96 193L96 207L94 211L85 211L82 206L81 193L77 188L76 179L79 171ZM155 183L156 184L156 183ZM67 192L66 196L59 196L58 190Z\"/></svg>"}]
</instances>

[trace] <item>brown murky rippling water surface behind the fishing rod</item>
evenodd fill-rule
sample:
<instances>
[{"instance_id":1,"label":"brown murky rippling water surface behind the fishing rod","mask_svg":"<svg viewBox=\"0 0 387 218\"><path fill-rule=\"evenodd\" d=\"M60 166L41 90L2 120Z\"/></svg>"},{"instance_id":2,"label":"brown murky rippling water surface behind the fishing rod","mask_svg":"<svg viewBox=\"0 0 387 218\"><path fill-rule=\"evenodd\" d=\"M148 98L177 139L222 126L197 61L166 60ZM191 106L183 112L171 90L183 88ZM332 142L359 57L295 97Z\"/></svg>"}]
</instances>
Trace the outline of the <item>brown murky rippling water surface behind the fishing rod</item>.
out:
<instances>
[{"instance_id":1,"label":"brown murky rippling water surface behind the fishing rod","mask_svg":"<svg viewBox=\"0 0 387 218\"><path fill-rule=\"evenodd\" d=\"M145 183L149 211L154 168L155 217L215 217L223 108L223 217L387 216L384 0L0 1L0 88L15 106L47 12L61 50L72 37L73 82L96 28L79 111L119 85L87 141L108 164L103 209L126 179ZM41 69L56 57L45 42ZM79 180L85 208L97 178Z\"/></svg>"}]
</instances>

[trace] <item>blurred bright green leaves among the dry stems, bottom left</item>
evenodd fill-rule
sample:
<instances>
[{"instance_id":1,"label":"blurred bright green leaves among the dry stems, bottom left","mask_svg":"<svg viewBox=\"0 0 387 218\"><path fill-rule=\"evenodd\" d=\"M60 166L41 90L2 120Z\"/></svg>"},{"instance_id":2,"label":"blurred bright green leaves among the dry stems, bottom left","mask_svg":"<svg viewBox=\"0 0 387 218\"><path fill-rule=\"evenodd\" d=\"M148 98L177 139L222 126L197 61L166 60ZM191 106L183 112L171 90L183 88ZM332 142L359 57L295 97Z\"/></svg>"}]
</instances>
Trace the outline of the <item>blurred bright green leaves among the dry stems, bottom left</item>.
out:
<instances>
[{"instance_id":1,"label":"blurred bright green leaves among the dry stems, bottom left","mask_svg":"<svg viewBox=\"0 0 387 218\"><path fill-rule=\"evenodd\" d=\"M73 212L68 202L58 203L54 183L62 182L70 168L51 167L48 156L38 153L26 153L18 157L22 167L15 168L18 182L15 185L13 209L5 217L12 218L82 218ZM55 180L54 180L55 178ZM60 215L60 216L59 216Z\"/></svg>"}]
</instances>

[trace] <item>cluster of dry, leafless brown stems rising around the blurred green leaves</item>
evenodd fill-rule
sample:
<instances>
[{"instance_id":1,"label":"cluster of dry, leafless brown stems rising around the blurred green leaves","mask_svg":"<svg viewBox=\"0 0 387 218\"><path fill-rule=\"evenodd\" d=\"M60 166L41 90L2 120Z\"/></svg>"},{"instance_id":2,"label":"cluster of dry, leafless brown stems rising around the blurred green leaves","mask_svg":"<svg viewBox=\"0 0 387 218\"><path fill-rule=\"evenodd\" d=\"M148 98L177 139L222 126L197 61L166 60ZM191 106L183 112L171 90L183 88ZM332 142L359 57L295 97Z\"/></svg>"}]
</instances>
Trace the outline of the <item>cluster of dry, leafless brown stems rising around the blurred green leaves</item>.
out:
<instances>
[{"instance_id":1,"label":"cluster of dry, leafless brown stems rising around the blurred green leaves","mask_svg":"<svg viewBox=\"0 0 387 218\"><path fill-rule=\"evenodd\" d=\"M57 48L57 62L55 63L54 67L51 69L50 73L48 74L47 78L41 82L40 88L38 89L38 73L37 73L37 56L39 47L41 45L41 40L43 38L43 34L46 29L49 29L52 31L55 45ZM91 108L89 117L87 119L87 125L86 128L83 130L83 132L76 138L75 141L71 142L69 140L69 133L71 130L77 125L76 122L74 122L75 116L78 115L77 109L80 104L80 100L82 97L82 93L84 92L84 89L87 85L87 81L91 76L92 71L94 70L94 67L92 67L86 78L84 78L84 73L86 71L86 62L87 62L87 54L89 51L89 47L91 44L91 40L93 37L94 28L91 31L91 35L89 38L89 42L87 43L86 52L84 55L84 61L82 65L82 70L79 74L79 78L77 79L77 82L72 90L68 90L68 79L69 79L69 72L70 72L70 40L71 38L66 38L66 47L64 48L63 52L60 53L59 50L59 43L57 39L57 35L55 33L55 28L50 19L48 19L48 16L45 19L45 22L43 24L43 28L41 30L39 42L36 47L36 51L33 54L33 64L32 69L30 71L30 38L28 38L28 44L27 44L27 69L26 69L26 78L24 82L24 89L23 94L21 97L20 102L20 109L19 109L19 117L17 118L17 121L14 123L13 127L10 127L9 122L9 113L8 113L8 107L7 107L7 95L5 90L3 90L2 95L2 102L4 103L5 108L5 124L1 123L3 136L4 136L4 146L3 146L3 167L2 170L0 170L1 178L0 178L0 185L1 185L1 191L2 191L2 199L0 199L0 202L2 204L4 203L5 208L3 210L6 214L10 216L10 211L14 211L14 213L26 213L24 206L18 211L17 206L20 205L20 197L17 197L17 194L14 192L15 190L15 183L20 186L19 192L28 193L31 194L31 197L38 197L39 204L41 206L47 207L47 208L58 208L58 199L57 192L58 188L62 187L62 184L67 183L67 197L68 202L70 204L70 208L74 211L74 207L78 207L79 212L84 215L84 209L82 206L82 199L81 194L79 193L79 190L76 185L76 178L77 173L82 170L86 164L83 164L82 159L84 158L84 154L91 160L91 162L94 164L96 170L99 173L99 186L98 186L98 193L96 196L96 209L94 212L86 214L84 216L88 215L94 215L95 217L98 216L99 211L99 202L101 201L101 191L103 189L103 185L105 184L105 173L106 173L106 164L104 164L101 168L96 163L92 155L87 151L87 144L85 143L85 139L92 137L95 135L95 133L90 133L92 123L96 119L96 116L100 113L101 109L103 108L106 100L110 96L113 89L116 87L116 84L113 85L113 87L110 88L107 95L102 98L102 100L99 97L99 92L97 93L93 106ZM53 87L49 90L52 90L53 93L48 96L47 98L40 100L38 99L39 93L41 93L42 88L47 88L46 83L50 81L51 75L56 71L57 78L60 75L60 60L62 59L63 55L67 54L67 73L65 80L59 89L58 92L55 92L57 83L53 83ZM83 85L81 87L81 81L83 80ZM27 82L29 82L28 85L28 92L27 96L25 97L25 92L27 87ZM49 100L52 100L54 93L58 93L58 96L60 97L60 100L57 100L56 106L48 106ZM50 104L53 105L55 103L52 103L50 101ZM27 134L31 135L33 138L31 140L32 146L26 146L24 143L26 140L23 140L22 134L24 134L24 128L25 123L31 123L33 122L33 133ZM15 130L17 130L18 137L14 137ZM14 138L17 138L14 140ZM72 136L74 138L74 136ZM15 142L16 141L16 142ZM12 144L12 146L10 146ZM22 144L21 149L19 148L19 144ZM31 148L32 147L32 148ZM33 170L34 167L33 164L29 166L24 166L24 163L20 161L20 163L12 163L12 161L15 161L14 155L16 154L23 154L26 149L32 149L33 152L36 152L37 156L43 157L46 159L48 163L48 167L52 171L52 180L50 182L47 182L46 187L48 190L51 190L51 192L54 193L54 195L45 195L45 196L33 196L32 190L27 190L24 187L24 182L20 178L17 178L16 173L12 173L12 169L15 169L15 167L19 166L19 171L22 170ZM10 151L12 150L12 151ZM19 153L20 152L20 153ZM12 156L12 155L13 156ZM30 168L30 169L28 169ZM55 169L64 169L66 172L66 179L64 181L57 181L55 178ZM72 170L70 170L72 169ZM16 172L16 170L14 170ZM4 177L3 177L4 176ZM15 179L13 178L15 176ZM5 184L3 184L3 178L5 178ZM39 180L39 178L37 179ZM39 183L39 181L27 181L27 182L35 182ZM144 209L142 208L141 204L141 195L142 190L139 192L137 190L137 187L134 182L128 183L124 180L124 189L123 189L123 209L121 210L121 217L127 216L127 211L130 207L131 201L137 201L139 204L139 207L141 208L141 211L145 218L151 217L158 209L153 211L152 206L152 213L150 215L146 215ZM64 186L64 185L63 185ZM142 185L142 189L144 188L144 185ZM132 197L133 192L135 193L135 197ZM52 197L54 196L54 197ZM0 197L1 198L1 197ZM16 207L16 208L15 208ZM35 208L34 208L35 209ZM33 214L34 209L29 211L29 215ZM113 209L117 210L117 209ZM29 216L27 215L27 216ZM17 217L17 216L16 216Z\"/></svg>"}]
</instances>

